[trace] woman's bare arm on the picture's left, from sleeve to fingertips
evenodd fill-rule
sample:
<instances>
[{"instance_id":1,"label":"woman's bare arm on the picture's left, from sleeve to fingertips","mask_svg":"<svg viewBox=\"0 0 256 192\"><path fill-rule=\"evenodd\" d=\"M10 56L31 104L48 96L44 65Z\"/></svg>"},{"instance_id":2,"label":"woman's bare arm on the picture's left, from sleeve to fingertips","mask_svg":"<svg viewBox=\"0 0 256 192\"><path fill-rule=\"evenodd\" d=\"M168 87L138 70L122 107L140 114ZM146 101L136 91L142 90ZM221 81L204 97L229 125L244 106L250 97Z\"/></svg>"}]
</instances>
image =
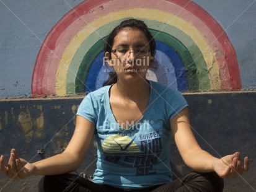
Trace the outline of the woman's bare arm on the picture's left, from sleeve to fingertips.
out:
<instances>
[{"instance_id":1,"label":"woman's bare arm on the picture's left, from sleeve to fingertips","mask_svg":"<svg viewBox=\"0 0 256 192\"><path fill-rule=\"evenodd\" d=\"M4 157L1 156L1 171L12 179L27 178L30 175L56 175L72 172L84 159L92 142L94 131L94 124L77 115L73 137L62 154L30 164L20 159L12 149L7 167L4 165Z\"/></svg>"}]
</instances>

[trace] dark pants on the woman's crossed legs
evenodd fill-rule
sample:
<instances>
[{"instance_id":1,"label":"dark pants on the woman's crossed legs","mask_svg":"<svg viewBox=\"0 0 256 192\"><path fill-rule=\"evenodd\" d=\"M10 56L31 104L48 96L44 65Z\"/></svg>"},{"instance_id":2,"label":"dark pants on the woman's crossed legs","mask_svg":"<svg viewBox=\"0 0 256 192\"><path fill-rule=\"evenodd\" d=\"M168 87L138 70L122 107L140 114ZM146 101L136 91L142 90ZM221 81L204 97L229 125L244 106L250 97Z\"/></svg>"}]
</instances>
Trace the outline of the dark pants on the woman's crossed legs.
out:
<instances>
[{"instance_id":1,"label":"dark pants on the woman's crossed legs","mask_svg":"<svg viewBox=\"0 0 256 192\"><path fill-rule=\"evenodd\" d=\"M216 173L197 173L192 172L182 178L171 181L164 185L151 186L140 190L121 190L109 185L97 184L77 175L66 173L63 175L45 176L39 181L38 191L104 191L104 192L120 192L120 191L223 191L223 179Z\"/></svg>"}]
</instances>

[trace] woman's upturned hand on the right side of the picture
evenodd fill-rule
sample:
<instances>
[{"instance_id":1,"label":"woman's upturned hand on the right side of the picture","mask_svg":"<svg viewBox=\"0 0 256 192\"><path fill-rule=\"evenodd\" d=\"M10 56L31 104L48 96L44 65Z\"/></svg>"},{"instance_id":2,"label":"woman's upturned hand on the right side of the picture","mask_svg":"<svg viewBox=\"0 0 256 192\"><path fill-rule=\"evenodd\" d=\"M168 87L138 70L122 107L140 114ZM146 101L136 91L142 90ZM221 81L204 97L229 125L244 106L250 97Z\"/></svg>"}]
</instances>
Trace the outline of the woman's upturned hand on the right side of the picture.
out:
<instances>
[{"instance_id":1,"label":"woman's upturned hand on the right side of the picture","mask_svg":"<svg viewBox=\"0 0 256 192\"><path fill-rule=\"evenodd\" d=\"M235 152L232 155L216 160L213 163L214 171L222 178L237 178L249 170L249 158L244 158L244 166L241 161L240 153Z\"/></svg>"}]
</instances>

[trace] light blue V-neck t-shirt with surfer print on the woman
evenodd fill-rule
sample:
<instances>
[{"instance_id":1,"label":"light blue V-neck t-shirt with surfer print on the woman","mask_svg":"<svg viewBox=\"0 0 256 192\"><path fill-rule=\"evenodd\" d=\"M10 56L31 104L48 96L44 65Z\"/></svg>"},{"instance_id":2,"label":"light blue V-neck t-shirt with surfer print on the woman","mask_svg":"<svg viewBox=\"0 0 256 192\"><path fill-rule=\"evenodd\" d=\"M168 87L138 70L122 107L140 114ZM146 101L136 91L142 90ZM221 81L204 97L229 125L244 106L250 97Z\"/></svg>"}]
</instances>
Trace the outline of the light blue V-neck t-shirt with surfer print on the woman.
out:
<instances>
[{"instance_id":1,"label":"light blue V-neck t-shirt with surfer print on the woman","mask_svg":"<svg viewBox=\"0 0 256 192\"><path fill-rule=\"evenodd\" d=\"M111 85L91 92L82 100L77 115L97 129L95 183L138 189L172 181L169 122L188 105L179 91L149 82L148 107L143 118L129 129L122 128L113 116L109 103Z\"/></svg>"}]
</instances>

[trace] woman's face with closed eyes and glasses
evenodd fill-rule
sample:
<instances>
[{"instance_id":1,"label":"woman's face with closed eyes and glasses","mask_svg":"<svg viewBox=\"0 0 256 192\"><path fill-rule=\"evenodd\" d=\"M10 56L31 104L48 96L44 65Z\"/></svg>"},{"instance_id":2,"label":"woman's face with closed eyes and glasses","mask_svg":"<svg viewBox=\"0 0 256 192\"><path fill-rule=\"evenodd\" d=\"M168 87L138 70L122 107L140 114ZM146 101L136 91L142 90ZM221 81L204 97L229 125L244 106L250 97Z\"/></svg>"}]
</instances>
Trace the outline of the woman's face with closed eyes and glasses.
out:
<instances>
[{"instance_id":1,"label":"woman's face with closed eyes and glasses","mask_svg":"<svg viewBox=\"0 0 256 192\"><path fill-rule=\"evenodd\" d=\"M149 41L141 30L123 28L114 38L112 53L106 53L108 65L117 73L119 80L144 80L151 67ZM120 79L121 78L121 79Z\"/></svg>"}]
</instances>

